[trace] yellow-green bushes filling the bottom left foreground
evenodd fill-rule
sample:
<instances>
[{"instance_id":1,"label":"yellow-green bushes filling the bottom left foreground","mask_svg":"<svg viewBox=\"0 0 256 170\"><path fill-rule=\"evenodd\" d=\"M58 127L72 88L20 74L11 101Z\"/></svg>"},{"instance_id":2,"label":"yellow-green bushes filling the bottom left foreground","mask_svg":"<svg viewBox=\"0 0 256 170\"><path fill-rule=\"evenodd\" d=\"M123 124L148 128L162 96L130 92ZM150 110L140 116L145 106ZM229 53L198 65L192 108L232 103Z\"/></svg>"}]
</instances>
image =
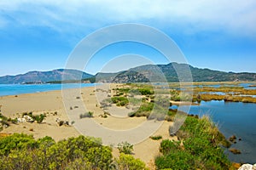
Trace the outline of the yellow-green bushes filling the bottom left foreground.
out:
<instances>
[{"instance_id":1,"label":"yellow-green bushes filling the bottom left foreground","mask_svg":"<svg viewBox=\"0 0 256 170\"><path fill-rule=\"evenodd\" d=\"M99 139L79 136L55 143L26 134L0 138L1 169L110 169L112 150Z\"/></svg>"}]
</instances>

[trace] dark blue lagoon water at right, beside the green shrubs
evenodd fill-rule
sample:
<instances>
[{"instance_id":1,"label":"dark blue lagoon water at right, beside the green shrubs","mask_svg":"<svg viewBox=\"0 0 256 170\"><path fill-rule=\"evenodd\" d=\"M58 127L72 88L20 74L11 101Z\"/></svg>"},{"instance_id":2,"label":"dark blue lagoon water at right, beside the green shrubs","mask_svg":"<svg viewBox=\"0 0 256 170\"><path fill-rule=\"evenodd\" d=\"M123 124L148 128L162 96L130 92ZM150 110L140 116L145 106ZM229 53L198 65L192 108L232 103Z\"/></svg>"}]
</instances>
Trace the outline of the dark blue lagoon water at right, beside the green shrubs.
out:
<instances>
[{"instance_id":1,"label":"dark blue lagoon water at right, beside the green shrubs","mask_svg":"<svg viewBox=\"0 0 256 170\"><path fill-rule=\"evenodd\" d=\"M256 104L241 102L209 101L201 105L192 105L189 114L209 115L225 137L235 134L236 144L231 147L241 150L241 155L233 155L229 150L225 153L230 161L255 163L256 161ZM241 141L238 139L241 138Z\"/></svg>"}]
</instances>

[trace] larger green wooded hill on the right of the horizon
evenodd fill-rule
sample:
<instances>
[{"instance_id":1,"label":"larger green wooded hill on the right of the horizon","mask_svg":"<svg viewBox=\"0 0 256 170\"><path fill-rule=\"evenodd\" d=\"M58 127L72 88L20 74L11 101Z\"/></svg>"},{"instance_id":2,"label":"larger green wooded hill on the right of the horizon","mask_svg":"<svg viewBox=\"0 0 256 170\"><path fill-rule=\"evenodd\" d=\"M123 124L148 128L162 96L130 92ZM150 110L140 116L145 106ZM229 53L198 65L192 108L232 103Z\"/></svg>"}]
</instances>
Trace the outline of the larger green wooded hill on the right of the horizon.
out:
<instances>
[{"instance_id":1,"label":"larger green wooded hill on the right of the horizon","mask_svg":"<svg viewBox=\"0 0 256 170\"><path fill-rule=\"evenodd\" d=\"M178 82L188 81L190 69L194 82L249 82L256 81L256 73L234 73L200 69L187 64L142 65L117 73L97 73L92 82ZM183 77L179 80L177 77Z\"/></svg>"}]
</instances>

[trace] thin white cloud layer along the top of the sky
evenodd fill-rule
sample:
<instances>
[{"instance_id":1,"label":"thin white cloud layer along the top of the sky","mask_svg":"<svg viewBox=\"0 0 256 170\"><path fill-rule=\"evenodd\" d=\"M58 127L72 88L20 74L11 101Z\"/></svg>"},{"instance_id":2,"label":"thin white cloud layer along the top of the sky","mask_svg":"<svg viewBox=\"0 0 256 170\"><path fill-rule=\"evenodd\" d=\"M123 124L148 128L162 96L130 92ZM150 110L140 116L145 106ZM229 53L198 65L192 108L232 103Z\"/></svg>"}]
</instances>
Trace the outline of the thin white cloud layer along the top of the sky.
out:
<instances>
[{"instance_id":1,"label":"thin white cloud layer along the top of the sky","mask_svg":"<svg viewBox=\"0 0 256 170\"><path fill-rule=\"evenodd\" d=\"M156 20L165 25L192 26L194 31L220 29L250 36L256 33L256 1L253 0L13 0L0 2L0 10L20 25L49 26L56 31ZM7 26L6 23L9 23L8 18L0 16L0 26Z\"/></svg>"}]
</instances>

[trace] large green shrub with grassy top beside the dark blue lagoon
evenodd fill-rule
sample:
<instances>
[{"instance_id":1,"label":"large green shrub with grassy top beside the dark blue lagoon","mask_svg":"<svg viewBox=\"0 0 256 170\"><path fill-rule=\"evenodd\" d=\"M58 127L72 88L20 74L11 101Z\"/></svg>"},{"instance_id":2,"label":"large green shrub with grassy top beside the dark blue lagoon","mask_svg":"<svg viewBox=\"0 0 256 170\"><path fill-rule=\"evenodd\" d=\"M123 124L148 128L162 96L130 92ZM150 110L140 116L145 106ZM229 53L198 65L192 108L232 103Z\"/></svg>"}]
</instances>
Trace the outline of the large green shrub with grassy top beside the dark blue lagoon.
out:
<instances>
[{"instance_id":1,"label":"large green shrub with grassy top beside the dark blue lagoon","mask_svg":"<svg viewBox=\"0 0 256 170\"><path fill-rule=\"evenodd\" d=\"M180 141L163 140L155 159L157 168L171 169L229 169L230 161L219 146L225 139L207 116L188 116L178 130Z\"/></svg>"}]
</instances>

